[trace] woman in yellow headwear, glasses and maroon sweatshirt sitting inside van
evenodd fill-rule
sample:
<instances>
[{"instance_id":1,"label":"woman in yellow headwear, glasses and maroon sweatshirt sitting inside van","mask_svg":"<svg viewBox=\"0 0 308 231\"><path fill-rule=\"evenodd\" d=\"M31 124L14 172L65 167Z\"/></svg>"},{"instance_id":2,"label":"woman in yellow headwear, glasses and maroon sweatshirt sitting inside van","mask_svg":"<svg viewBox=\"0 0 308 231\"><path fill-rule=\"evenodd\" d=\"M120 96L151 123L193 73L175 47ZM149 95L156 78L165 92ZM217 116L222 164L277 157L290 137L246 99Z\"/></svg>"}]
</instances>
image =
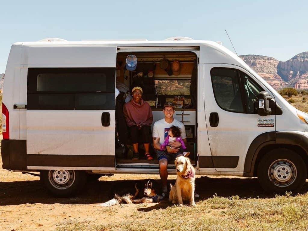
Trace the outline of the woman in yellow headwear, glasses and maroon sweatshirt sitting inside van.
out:
<instances>
[{"instance_id":1,"label":"woman in yellow headwear, glasses and maroon sweatshirt sitting inside van","mask_svg":"<svg viewBox=\"0 0 308 231\"><path fill-rule=\"evenodd\" d=\"M134 154L133 160L139 159L138 142L143 141L145 158L152 160L153 157L149 153L150 141L152 136L150 134L150 126L153 122L153 115L150 105L142 98L142 88L134 87L132 89L132 99L124 104L123 114L126 124L129 127L130 137L132 140Z\"/></svg>"}]
</instances>

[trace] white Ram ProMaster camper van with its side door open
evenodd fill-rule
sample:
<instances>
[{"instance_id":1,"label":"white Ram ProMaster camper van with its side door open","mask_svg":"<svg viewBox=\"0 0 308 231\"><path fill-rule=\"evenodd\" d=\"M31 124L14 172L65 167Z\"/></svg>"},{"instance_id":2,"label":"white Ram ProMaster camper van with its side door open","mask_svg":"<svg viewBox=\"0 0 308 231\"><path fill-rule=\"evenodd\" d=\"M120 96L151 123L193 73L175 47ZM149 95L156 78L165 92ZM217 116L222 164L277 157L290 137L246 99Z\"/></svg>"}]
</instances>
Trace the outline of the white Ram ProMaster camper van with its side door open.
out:
<instances>
[{"instance_id":1,"label":"white Ram ProMaster camper van with its side door open","mask_svg":"<svg viewBox=\"0 0 308 231\"><path fill-rule=\"evenodd\" d=\"M134 71L128 56L136 57ZM164 118L165 102L175 103L197 174L257 176L276 192L303 186L308 114L219 43L179 37L14 43L4 78L2 168L40 172L56 195L79 189L87 175L159 174L156 158L132 160L123 104L137 85L153 124ZM172 161L168 172L176 173Z\"/></svg>"}]
</instances>

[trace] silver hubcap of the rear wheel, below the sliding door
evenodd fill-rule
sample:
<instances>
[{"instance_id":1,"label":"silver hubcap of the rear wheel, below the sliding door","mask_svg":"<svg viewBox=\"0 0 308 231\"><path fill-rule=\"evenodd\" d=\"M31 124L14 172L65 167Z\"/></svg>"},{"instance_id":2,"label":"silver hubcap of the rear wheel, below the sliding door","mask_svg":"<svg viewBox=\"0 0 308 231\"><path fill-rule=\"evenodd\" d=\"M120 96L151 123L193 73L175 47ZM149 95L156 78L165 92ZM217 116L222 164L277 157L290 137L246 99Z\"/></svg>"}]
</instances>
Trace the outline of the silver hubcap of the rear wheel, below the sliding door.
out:
<instances>
[{"instance_id":1,"label":"silver hubcap of the rear wheel, below the sliding door","mask_svg":"<svg viewBox=\"0 0 308 231\"><path fill-rule=\"evenodd\" d=\"M49 182L58 189L69 188L75 181L74 170L49 170Z\"/></svg>"}]
</instances>

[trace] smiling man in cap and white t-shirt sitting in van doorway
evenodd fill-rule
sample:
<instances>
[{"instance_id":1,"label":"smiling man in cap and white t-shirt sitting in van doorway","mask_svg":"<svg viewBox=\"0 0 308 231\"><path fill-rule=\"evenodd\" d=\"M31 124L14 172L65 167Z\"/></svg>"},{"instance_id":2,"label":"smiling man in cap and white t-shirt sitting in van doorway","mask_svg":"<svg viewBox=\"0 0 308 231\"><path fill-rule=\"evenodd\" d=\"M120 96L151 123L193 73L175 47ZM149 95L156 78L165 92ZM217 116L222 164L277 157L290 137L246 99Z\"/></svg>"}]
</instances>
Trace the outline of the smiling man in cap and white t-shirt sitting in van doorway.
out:
<instances>
[{"instance_id":1,"label":"smiling man in cap and white t-shirt sitting in van doorway","mask_svg":"<svg viewBox=\"0 0 308 231\"><path fill-rule=\"evenodd\" d=\"M158 120L154 123L153 126L153 147L157 149L157 159L159 162L159 174L162 181L163 193L165 196L167 194L167 178L168 171L167 165L168 160L175 160L178 156L183 156L183 153L180 152L181 143L179 141L170 142L169 145L172 148L170 151L161 151L160 145L164 143L165 138L168 135L169 128L174 125L181 129L181 138L184 141L185 146L187 145L185 126L180 121L173 118L175 112L175 107L172 102L164 103L164 119ZM199 197L198 194L195 194L195 197Z\"/></svg>"}]
</instances>

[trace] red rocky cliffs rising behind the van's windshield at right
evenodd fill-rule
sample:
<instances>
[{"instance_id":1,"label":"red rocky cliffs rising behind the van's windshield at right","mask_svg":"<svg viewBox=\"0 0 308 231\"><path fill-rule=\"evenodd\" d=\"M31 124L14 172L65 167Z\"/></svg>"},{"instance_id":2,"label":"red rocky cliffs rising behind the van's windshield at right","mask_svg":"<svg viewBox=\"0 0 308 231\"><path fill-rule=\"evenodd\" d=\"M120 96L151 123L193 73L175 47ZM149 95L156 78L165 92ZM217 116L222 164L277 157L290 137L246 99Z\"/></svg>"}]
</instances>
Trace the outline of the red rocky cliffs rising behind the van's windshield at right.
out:
<instances>
[{"instance_id":1,"label":"red rocky cliffs rising behind the van's windshield at right","mask_svg":"<svg viewBox=\"0 0 308 231\"><path fill-rule=\"evenodd\" d=\"M241 55L240 58L276 89L308 89L308 52L285 62L262 55Z\"/></svg>"}]
</instances>

